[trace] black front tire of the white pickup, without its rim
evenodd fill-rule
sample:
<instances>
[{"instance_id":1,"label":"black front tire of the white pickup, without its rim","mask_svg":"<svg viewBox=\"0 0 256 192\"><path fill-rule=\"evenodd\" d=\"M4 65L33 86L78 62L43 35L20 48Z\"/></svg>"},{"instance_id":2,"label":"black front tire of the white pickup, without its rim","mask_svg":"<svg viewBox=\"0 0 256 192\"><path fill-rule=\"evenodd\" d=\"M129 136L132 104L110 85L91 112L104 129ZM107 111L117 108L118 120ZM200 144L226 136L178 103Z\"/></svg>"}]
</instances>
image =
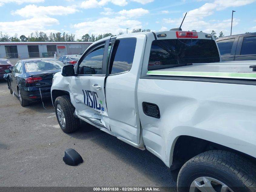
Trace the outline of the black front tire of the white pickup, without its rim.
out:
<instances>
[{"instance_id":1,"label":"black front tire of the white pickup, without its rim","mask_svg":"<svg viewBox=\"0 0 256 192\"><path fill-rule=\"evenodd\" d=\"M57 114L57 106L58 104L62 107L64 117L65 117L65 126L62 126L62 123L59 120L58 114ZM58 123L65 133L72 133L76 131L79 128L80 120L78 118L75 118L74 112L75 107L72 105L69 96L64 95L57 97L55 99L55 114L58 120Z\"/></svg>"}]
</instances>

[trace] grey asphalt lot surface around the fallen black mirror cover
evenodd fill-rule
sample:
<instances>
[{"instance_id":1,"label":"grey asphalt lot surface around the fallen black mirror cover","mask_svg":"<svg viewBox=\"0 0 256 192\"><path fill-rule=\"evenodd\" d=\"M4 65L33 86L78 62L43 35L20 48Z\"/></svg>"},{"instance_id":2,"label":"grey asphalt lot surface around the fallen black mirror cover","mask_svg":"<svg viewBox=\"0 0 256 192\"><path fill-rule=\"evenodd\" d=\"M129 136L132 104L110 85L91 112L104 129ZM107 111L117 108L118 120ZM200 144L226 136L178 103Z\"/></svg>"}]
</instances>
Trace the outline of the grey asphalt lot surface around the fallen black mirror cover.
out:
<instances>
[{"instance_id":1,"label":"grey asphalt lot surface around the fallen black mirror cover","mask_svg":"<svg viewBox=\"0 0 256 192\"><path fill-rule=\"evenodd\" d=\"M84 122L77 132L63 133L50 100L45 107L22 107L0 81L0 187L176 186L165 164L147 150ZM62 157L68 148L84 162L66 165Z\"/></svg>"}]
</instances>

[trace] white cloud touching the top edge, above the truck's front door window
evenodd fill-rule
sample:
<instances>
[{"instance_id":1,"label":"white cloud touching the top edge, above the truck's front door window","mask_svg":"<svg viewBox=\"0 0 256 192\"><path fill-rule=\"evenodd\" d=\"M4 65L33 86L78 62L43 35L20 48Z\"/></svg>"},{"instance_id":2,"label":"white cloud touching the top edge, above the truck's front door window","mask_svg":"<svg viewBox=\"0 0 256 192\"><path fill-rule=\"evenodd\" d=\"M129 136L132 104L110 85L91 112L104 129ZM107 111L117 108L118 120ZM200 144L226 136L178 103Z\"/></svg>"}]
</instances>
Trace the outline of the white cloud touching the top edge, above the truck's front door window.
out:
<instances>
[{"instance_id":1,"label":"white cloud touching the top edge, above the truck's front door window","mask_svg":"<svg viewBox=\"0 0 256 192\"><path fill-rule=\"evenodd\" d=\"M107 5L109 2L118 6L125 6L128 4L126 0L101 0L101 1L88 0L81 3L81 8L84 8L84 9L99 8L101 6Z\"/></svg>"}]
</instances>

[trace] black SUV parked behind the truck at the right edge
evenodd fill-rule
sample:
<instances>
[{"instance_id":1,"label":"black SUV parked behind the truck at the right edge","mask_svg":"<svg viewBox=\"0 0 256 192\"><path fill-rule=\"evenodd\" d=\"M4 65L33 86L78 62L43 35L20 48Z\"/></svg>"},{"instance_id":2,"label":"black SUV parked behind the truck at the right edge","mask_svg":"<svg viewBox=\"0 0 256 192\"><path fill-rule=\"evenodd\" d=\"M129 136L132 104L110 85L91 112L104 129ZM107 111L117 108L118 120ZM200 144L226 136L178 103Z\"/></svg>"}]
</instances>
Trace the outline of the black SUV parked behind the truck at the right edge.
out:
<instances>
[{"instance_id":1,"label":"black SUV parked behind the truck at the right edge","mask_svg":"<svg viewBox=\"0 0 256 192\"><path fill-rule=\"evenodd\" d=\"M256 60L256 32L216 40L222 61Z\"/></svg>"}]
</instances>

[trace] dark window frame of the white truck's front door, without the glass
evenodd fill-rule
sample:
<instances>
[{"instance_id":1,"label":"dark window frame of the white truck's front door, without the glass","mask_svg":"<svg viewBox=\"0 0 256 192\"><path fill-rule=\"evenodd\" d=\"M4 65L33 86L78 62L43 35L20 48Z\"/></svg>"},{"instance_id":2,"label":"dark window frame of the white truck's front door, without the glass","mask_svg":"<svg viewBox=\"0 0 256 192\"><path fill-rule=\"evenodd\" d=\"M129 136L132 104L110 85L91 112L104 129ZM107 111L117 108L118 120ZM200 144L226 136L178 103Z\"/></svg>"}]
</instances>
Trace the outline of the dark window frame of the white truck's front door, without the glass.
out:
<instances>
[{"instance_id":1,"label":"dark window frame of the white truck's front door, without the glass","mask_svg":"<svg viewBox=\"0 0 256 192\"><path fill-rule=\"evenodd\" d=\"M92 46L88 51L86 51L81 58L78 60L78 65L76 71L76 76L106 76L107 75L107 55L108 55L108 45L109 45L109 39L106 39L105 41L98 42L96 45ZM84 60L86 56L88 56L91 52L95 51L96 49L104 46L103 51L103 58L102 58L102 74L79 74L79 66L81 62Z\"/></svg>"}]
</instances>

